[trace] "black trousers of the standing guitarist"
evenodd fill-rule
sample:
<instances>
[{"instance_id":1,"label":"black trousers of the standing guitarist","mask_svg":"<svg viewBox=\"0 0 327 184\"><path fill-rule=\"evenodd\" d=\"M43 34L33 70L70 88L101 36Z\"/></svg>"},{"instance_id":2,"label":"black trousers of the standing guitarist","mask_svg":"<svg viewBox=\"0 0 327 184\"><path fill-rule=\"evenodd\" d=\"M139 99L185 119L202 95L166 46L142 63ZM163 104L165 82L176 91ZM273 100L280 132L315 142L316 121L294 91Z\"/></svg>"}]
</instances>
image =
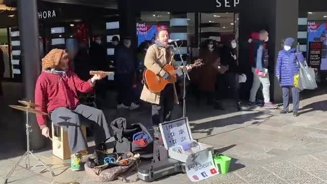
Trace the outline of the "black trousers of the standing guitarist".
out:
<instances>
[{"instance_id":1,"label":"black trousers of the standing guitarist","mask_svg":"<svg viewBox=\"0 0 327 184\"><path fill-rule=\"evenodd\" d=\"M158 126L159 123L171 120L174 107L174 84L168 84L161 91L159 105L152 105L152 123Z\"/></svg>"}]
</instances>

